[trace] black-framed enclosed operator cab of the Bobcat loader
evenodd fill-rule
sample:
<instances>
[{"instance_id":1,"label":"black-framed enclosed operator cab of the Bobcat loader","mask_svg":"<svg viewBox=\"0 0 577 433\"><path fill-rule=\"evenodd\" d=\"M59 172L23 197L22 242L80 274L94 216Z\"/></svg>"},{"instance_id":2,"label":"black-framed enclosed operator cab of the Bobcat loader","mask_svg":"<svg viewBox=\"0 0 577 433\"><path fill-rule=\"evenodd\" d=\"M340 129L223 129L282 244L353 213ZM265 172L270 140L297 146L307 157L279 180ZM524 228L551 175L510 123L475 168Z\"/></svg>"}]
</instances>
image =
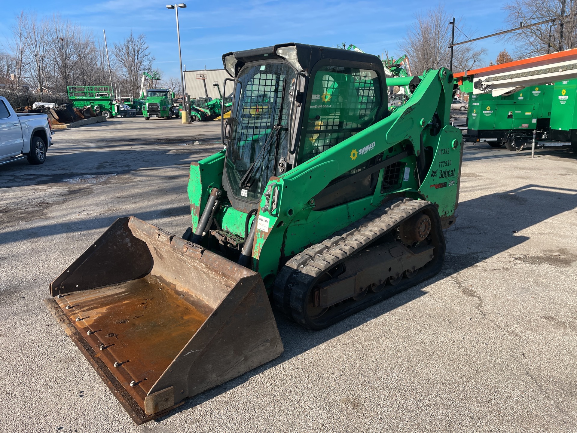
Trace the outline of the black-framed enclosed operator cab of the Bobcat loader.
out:
<instances>
[{"instance_id":1,"label":"black-framed enclosed operator cab of the Bobcat loader","mask_svg":"<svg viewBox=\"0 0 577 433\"><path fill-rule=\"evenodd\" d=\"M243 212L258 207L269 178L389 113L383 64L371 54L291 43L227 53L223 64L234 79L223 186Z\"/></svg>"}]
</instances>

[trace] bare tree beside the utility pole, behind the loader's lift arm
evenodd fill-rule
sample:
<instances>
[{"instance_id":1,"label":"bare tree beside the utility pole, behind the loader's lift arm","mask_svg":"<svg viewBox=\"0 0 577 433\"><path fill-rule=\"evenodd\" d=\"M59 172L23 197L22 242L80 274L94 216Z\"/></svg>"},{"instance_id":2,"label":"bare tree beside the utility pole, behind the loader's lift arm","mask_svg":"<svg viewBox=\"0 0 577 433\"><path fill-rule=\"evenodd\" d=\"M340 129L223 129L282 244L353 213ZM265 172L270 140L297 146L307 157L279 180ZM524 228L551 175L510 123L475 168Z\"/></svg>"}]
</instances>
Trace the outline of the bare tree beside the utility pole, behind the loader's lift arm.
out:
<instances>
[{"instance_id":1,"label":"bare tree beside the utility pole, behind the loader's lift arm","mask_svg":"<svg viewBox=\"0 0 577 433\"><path fill-rule=\"evenodd\" d=\"M414 74L422 74L426 69L448 68L450 62L451 16L443 5L415 14L415 21L400 48L409 56ZM458 20L460 25L462 20ZM459 25L457 27L459 27ZM482 63L485 48L471 49L470 46L454 48L453 69L472 69Z\"/></svg>"}]
</instances>

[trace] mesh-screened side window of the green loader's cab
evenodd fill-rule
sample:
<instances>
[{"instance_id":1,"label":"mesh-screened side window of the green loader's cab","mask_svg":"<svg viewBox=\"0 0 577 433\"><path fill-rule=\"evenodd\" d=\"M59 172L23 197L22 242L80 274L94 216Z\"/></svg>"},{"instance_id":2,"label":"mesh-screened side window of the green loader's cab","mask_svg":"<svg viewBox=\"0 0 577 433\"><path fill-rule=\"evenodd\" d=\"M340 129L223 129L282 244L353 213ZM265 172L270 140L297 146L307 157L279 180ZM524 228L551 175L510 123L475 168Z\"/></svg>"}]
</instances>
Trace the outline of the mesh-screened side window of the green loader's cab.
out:
<instances>
[{"instance_id":1,"label":"mesh-screened side window of the green loader's cab","mask_svg":"<svg viewBox=\"0 0 577 433\"><path fill-rule=\"evenodd\" d=\"M381 104L377 73L323 66L314 75L298 162L324 152L374 122Z\"/></svg>"}]
</instances>

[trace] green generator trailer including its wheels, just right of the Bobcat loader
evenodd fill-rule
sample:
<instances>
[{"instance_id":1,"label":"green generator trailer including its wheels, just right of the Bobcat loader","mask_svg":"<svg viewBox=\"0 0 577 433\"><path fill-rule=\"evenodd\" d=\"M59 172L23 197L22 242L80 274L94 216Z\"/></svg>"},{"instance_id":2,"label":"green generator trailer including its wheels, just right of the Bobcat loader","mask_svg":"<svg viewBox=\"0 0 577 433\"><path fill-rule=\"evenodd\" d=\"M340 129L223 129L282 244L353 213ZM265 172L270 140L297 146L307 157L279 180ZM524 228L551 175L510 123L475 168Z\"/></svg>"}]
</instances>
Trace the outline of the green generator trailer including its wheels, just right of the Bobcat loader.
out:
<instances>
[{"instance_id":1,"label":"green generator trailer including its wheels, just right of the Bobcat loader","mask_svg":"<svg viewBox=\"0 0 577 433\"><path fill-rule=\"evenodd\" d=\"M526 87L507 96L471 94L466 138L486 142L492 147L505 145L509 150L515 150L522 143L531 143L533 131L538 140L546 139L553 89L553 84L544 84Z\"/></svg>"}]
</instances>

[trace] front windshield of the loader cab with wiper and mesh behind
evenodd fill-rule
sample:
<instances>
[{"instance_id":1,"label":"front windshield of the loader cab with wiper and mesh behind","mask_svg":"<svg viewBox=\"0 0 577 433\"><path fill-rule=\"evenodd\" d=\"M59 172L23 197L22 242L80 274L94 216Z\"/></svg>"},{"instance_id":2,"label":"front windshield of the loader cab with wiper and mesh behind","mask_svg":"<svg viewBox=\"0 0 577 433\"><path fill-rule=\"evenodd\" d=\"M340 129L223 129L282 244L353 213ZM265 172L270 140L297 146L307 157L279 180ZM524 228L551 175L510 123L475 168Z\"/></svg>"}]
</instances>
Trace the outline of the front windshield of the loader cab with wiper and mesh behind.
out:
<instances>
[{"instance_id":1,"label":"front windshield of the loader cab with wiper and mesh behind","mask_svg":"<svg viewBox=\"0 0 577 433\"><path fill-rule=\"evenodd\" d=\"M277 160L287 155L295 77L286 63L246 66L239 73L226 154L226 175L237 197L257 200L269 178L280 174Z\"/></svg>"}]
</instances>

